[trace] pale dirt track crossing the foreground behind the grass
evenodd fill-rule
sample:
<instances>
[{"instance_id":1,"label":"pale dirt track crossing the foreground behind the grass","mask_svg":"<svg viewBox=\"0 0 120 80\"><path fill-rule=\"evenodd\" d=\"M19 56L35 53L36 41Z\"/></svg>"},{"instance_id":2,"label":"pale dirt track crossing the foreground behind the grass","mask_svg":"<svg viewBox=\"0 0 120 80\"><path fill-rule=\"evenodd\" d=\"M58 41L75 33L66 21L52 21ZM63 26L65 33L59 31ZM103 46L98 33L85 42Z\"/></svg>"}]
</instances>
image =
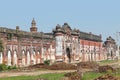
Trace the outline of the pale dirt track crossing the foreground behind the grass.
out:
<instances>
[{"instance_id":1,"label":"pale dirt track crossing the foreground behind the grass","mask_svg":"<svg viewBox=\"0 0 120 80\"><path fill-rule=\"evenodd\" d=\"M111 65L116 65L119 62L116 62ZM120 63L119 63L120 64ZM47 73L69 73L69 72L75 72L77 70L33 70L33 71L6 71L6 72L0 72L0 78L1 77L11 77L11 76L32 76L32 75L40 75L40 74L47 74ZM92 71L92 69L84 69L83 72L86 71Z\"/></svg>"}]
</instances>

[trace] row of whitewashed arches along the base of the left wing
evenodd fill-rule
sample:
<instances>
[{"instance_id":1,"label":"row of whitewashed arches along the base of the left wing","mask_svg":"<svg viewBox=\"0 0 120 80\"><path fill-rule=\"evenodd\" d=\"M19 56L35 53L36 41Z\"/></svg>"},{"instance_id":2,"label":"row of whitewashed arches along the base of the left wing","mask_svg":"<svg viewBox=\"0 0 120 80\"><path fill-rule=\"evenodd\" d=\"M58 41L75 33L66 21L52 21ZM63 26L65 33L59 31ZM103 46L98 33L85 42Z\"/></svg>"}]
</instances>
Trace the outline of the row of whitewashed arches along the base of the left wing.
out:
<instances>
[{"instance_id":1,"label":"row of whitewashed arches along the base of the left wing","mask_svg":"<svg viewBox=\"0 0 120 80\"><path fill-rule=\"evenodd\" d=\"M4 60L4 61L3 61ZM3 57L3 53L0 52L0 64L7 64L8 66L14 65L22 65L29 66L31 64L37 64L41 62L41 54L40 52L30 51L25 52L24 50L21 52L21 55L18 55L17 51L13 51L13 53L8 50L6 57Z\"/></svg>"}]
</instances>

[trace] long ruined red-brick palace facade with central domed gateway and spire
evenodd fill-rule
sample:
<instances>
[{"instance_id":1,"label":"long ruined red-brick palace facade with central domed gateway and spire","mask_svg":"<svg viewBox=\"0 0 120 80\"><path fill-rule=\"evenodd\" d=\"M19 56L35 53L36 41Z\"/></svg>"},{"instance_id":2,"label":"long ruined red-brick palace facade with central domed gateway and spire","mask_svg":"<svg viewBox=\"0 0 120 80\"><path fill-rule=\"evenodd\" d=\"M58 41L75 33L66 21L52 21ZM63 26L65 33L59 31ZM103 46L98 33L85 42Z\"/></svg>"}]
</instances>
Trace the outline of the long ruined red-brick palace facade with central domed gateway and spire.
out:
<instances>
[{"instance_id":1,"label":"long ruined red-brick palace facade with central domed gateway and spire","mask_svg":"<svg viewBox=\"0 0 120 80\"><path fill-rule=\"evenodd\" d=\"M29 66L44 60L76 62L103 59L101 35L82 32L64 23L51 33L37 31L33 19L30 32L0 27L0 64Z\"/></svg>"}]
</instances>

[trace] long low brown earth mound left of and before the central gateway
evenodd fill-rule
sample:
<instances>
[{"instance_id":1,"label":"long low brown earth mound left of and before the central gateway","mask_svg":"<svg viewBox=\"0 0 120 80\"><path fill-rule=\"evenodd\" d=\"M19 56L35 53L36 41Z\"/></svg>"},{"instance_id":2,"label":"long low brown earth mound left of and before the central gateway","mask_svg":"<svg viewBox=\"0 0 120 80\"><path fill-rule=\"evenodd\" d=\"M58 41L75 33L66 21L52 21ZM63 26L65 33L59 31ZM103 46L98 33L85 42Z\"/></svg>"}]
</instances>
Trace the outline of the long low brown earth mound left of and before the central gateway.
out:
<instances>
[{"instance_id":1,"label":"long low brown earth mound left of and before the central gateway","mask_svg":"<svg viewBox=\"0 0 120 80\"><path fill-rule=\"evenodd\" d=\"M20 68L19 71L34 71L36 69L48 69L48 70L76 70L75 65L59 62L52 65L46 65L44 63L31 65L28 67Z\"/></svg>"}]
</instances>

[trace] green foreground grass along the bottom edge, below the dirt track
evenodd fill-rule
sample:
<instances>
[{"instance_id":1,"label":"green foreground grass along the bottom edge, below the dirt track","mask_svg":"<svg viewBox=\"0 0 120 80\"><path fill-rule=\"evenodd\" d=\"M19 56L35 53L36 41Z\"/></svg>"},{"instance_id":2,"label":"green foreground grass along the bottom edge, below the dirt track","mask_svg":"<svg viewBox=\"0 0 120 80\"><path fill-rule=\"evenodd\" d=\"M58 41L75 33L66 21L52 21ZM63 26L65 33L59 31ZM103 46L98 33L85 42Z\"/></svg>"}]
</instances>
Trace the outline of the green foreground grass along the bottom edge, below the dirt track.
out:
<instances>
[{"instance_id":1,"label":"green foreground grass along the bottom edge, below the dirt track","mask_svg":"<svg viewBox=\"0 0 120 80\"><path fill-rule=\"evenodd\" d=\"M65 73L42 74L39 76L16 76L16 77L1 78L0 80L37 80L38 78L44 78L47 80L61 80L61 78L64 77L64 74ZM82 80L88 80L88 79L94 80L95 78L104 74L107 74L107 73L87 72L83 74ZM120 72L117 74L112 73L112 75L120 77Z\"/></svg>"}]
</instances>

